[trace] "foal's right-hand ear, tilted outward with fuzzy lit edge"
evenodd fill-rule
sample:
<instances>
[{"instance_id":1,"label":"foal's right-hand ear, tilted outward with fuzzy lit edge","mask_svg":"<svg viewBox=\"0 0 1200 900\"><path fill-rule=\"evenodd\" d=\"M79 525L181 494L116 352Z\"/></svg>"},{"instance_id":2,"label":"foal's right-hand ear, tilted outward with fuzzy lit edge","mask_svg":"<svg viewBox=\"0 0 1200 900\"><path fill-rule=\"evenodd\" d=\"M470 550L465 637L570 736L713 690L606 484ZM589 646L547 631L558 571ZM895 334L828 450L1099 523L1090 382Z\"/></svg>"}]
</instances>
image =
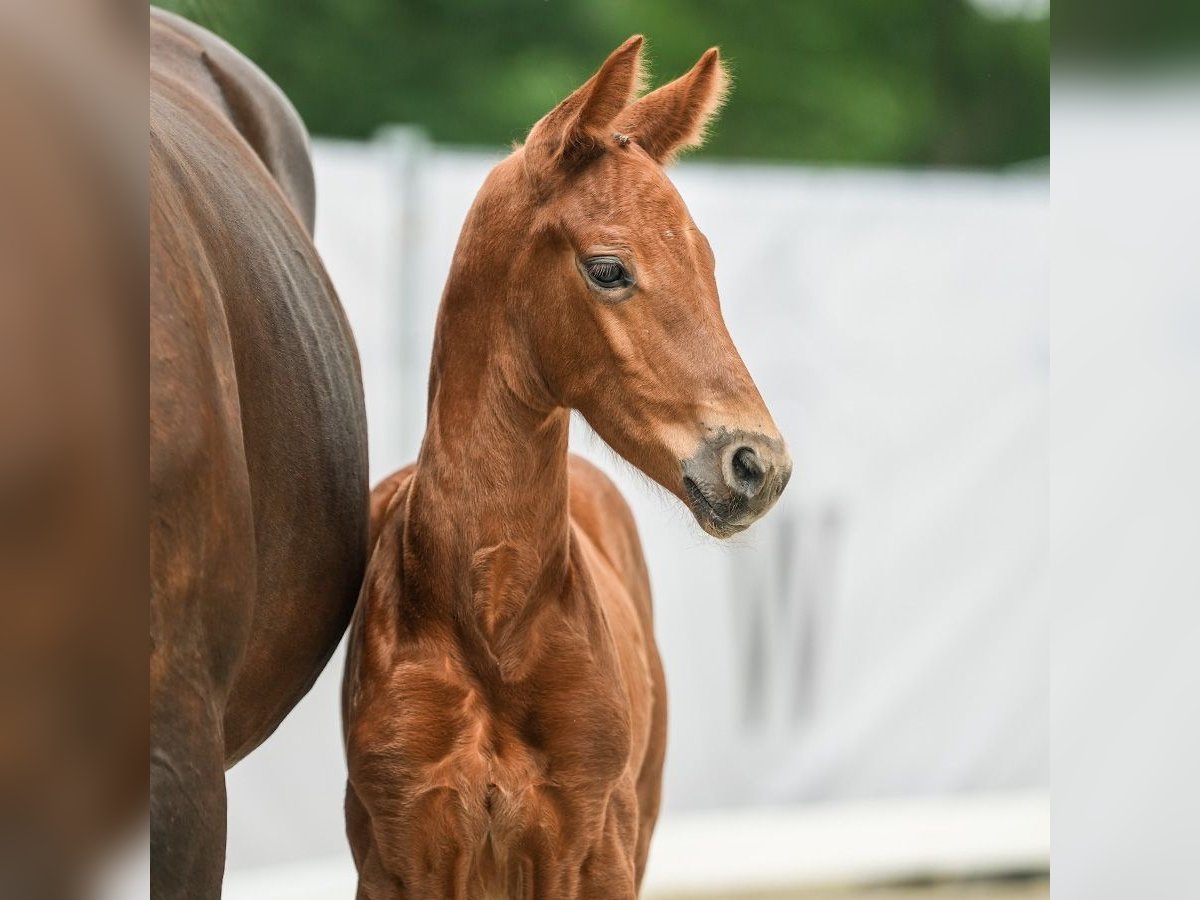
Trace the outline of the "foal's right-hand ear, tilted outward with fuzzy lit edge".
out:
<instances>
[{"instance_id":1,"label":"foal's right-hand ear, tilted outward with fuzzy lit edge","mask_svg":"<svg viewBox=\"0 0 1200 900\"><path fill-rule=\"evenodd\" d=\"M725 102L728 84L720 52L713 47L688 74L630 104L620 114L617 131L665 163L704 143L704 131Z\"/></svg>"}]
</instances>

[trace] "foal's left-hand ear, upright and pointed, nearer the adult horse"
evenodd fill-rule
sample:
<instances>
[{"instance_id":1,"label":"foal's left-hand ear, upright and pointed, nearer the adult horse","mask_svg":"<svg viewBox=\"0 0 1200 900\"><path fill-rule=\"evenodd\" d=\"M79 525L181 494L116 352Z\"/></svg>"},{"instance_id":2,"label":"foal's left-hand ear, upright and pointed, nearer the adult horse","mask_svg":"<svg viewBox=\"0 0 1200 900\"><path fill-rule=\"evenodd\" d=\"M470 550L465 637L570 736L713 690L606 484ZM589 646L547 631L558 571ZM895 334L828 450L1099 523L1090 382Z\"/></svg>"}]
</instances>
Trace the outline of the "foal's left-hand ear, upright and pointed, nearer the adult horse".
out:
<instances>
[{"instance_id":1,"label":"foal's left-hand ear, upright and pointed, nearer the adult horse","mask_svg":"<svg viewBox=\"0 0 1200 900\"><path fill-rule=\"evenodd\" d=\"M600 70L542 116L526 140L526 167L541 180L572 169L604 151L610 127L642 86L642 36L618 47Z\"/></svg>"}]
</instances>

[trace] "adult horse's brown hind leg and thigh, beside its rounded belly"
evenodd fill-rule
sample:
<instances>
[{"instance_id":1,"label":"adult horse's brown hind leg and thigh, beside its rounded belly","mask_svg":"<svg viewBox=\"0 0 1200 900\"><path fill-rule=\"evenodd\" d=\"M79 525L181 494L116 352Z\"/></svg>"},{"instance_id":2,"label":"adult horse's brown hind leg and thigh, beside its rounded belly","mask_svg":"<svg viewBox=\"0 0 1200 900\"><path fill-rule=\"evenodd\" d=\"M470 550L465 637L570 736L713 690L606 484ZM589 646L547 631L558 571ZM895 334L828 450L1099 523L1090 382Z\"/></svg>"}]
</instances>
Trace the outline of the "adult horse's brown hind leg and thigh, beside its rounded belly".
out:
<instances>
[{"instance_id":1,"label":"adult horse's brown hind leg and thigh, beside its rounded belly","mask_svg":"<svg viewBox=\"0 0 1200 900\"><path fill-rule=\"evenodd\" d=\"M186 229L154 216L155 251ZM155 226L158 226L155 228ZM162 258L162 257L160 257ZM222 706L250 634L253 511L233 354L186 271L151 275L150 792L155 896L216 896L224 854Z\"/></svg>"}]
</instances>

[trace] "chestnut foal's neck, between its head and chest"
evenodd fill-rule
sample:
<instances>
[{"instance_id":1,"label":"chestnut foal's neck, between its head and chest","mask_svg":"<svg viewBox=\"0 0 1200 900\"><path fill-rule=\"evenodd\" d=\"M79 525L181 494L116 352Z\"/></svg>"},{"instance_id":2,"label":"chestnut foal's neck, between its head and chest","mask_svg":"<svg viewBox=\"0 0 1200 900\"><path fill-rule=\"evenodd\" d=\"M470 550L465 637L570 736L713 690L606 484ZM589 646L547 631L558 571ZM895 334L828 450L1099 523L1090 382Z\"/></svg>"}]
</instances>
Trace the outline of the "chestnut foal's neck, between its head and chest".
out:
<instances>
[{"instance_id":1,"label":"chestnut foal's neck, between its head and chest","mask_svg":"<svg viewBox=\"0 0 1200 900\"><path fill-rule=\"evenodd\" d=\"M570 418L536 390L523 336L479 283L456 260L438 317L406 556L422 560L430 582L414 595L478 625L503 661L497 644L523 631L538 599L560 596L568 575Z\"/></svg>"}]
</instances>

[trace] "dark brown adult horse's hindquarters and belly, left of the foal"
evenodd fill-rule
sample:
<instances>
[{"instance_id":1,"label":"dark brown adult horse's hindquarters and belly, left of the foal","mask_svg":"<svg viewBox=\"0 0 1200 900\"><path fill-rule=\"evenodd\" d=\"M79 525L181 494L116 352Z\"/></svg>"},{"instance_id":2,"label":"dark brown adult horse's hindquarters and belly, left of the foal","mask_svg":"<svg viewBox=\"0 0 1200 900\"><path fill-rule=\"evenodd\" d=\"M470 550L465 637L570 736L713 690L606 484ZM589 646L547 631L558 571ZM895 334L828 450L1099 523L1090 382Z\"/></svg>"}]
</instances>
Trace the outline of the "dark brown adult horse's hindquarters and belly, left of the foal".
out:
<instances>
[{"instance_id":1,"label":"dark brown adult horse's hindquarters and belly, left of the foal","mask_svg":"<svg viewBox=\"0 0 1200 900\"><path fill-rule=\"evenodd\" d=\"M152 882L209 898L224 769L354 608L366 424L300 119L211 34L154 10L150 28Z\"/></svg>"}]
</instances>

